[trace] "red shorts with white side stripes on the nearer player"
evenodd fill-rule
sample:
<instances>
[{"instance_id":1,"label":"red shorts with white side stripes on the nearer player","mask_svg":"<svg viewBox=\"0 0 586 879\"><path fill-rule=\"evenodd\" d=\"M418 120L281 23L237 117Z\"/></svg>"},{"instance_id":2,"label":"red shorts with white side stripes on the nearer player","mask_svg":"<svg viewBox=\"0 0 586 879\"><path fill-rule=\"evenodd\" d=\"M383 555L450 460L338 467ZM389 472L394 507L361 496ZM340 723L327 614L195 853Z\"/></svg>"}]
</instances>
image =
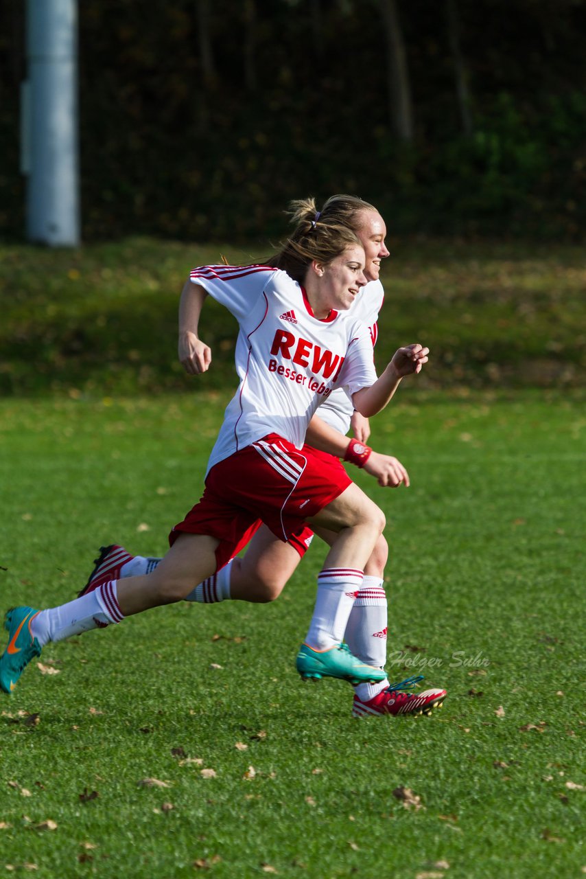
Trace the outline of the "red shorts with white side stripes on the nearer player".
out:
<instances>
[{"instance_id":1,"label":"red shorts with white side stripes on the nearer player","mask_svg":"<svg viewBox=\"0 0 586 879\"><path fill-rule=\"evenodd\" d=\"M260 520L303 555L311 538L304 523L351 485L332 455L301 450L270 433L214 464L202 498L170 533L209 534L220 541L218 569L246 546ZM307 541L307 542L306 542Z\"/></svg>"}]
</instances>

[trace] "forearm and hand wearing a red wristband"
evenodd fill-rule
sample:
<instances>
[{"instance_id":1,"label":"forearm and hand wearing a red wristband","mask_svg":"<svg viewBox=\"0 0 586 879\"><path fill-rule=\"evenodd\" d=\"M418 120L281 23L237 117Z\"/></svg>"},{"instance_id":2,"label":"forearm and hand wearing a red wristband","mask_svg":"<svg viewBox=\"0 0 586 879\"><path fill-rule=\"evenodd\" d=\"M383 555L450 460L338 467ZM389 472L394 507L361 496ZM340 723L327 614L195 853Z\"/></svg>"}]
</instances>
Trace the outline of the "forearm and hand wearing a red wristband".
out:
<instances>
[{"instance_id":1,"label":"forearm and hand wearing a red wristband","mask_svg":"<svg viewBox=\"0 0 586 879\"><path fill-rule=\"evenodd\" d=\"M327 425L322 418L315 415L309 422L306 442L322 452L335 454L336 458L344 458L357 467L364 468L366 473L377 480L379 485L396 488L398 485L409 485L409 473L390 454L379 454L372 448L359 443L356 439L348 439L335 427Z\"/></svg>"}]
</instances>

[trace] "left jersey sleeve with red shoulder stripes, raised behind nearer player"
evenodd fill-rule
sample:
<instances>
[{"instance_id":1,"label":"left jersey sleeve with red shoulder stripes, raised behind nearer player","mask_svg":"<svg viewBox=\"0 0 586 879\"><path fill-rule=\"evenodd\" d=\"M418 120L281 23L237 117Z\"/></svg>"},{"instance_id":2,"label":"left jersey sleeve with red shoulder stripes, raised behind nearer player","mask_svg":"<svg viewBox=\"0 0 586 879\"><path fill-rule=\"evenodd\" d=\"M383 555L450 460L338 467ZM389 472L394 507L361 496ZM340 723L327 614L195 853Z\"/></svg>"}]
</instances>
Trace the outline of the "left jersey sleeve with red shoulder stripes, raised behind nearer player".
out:
<instances>
[{"instance_id":1,"label":"left jersey sleeve with red shoulder stripes, raised behind nearer player","mask_svg":"<svg viewBox=\"0 0 586 879\"><path fill-rule=\"evenodd\" d=\"M189 278L244 323L275 271L268 265L200 265Z\"/></svg>"}]
</instances>

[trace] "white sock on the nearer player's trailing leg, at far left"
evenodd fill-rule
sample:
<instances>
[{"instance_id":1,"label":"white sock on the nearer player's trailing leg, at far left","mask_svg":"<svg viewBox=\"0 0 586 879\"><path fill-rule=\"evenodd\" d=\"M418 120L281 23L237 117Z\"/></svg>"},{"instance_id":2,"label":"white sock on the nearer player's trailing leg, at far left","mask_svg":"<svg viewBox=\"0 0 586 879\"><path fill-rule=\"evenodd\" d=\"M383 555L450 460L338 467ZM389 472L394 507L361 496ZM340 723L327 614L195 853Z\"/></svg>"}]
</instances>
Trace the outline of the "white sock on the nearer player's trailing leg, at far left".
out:
<instances>
[{"instance_id":1,"label":"white sock on the nearer player's trailing leg, at far left","mask_svg":"<svg viewBox=\"0 0 586 879\"><path fill-rule=\"evenodd\" d=\"M112 580L80 599L59 607L41 610L31 622L31 632L44 647L49 641L62 641L72 635L81 635L92 628L105 628L124 619L120 611L116 580Z\"/></svg>"}]
</instances>

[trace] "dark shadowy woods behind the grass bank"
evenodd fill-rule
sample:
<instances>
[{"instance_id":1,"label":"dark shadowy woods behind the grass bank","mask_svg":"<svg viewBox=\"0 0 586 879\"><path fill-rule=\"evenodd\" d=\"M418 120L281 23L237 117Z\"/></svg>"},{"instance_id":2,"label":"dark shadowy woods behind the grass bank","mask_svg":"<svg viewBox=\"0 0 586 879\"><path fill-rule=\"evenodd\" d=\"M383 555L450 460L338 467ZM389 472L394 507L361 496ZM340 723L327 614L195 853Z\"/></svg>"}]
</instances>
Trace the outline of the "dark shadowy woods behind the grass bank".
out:
<instances>
[{"instance_id":1,"label":"dark shadowy woods behind the grass bank","mask_svg":"<svg viewBox=\"0 0 586 879\"><path fill-rule=\"evenodd\" d=\"M579 240L586 0L80 0L85 240L279 235L351 192L394 234ZM23 0L0 0L0 234L22 237Z\"/></svg>"}]
</instances>

